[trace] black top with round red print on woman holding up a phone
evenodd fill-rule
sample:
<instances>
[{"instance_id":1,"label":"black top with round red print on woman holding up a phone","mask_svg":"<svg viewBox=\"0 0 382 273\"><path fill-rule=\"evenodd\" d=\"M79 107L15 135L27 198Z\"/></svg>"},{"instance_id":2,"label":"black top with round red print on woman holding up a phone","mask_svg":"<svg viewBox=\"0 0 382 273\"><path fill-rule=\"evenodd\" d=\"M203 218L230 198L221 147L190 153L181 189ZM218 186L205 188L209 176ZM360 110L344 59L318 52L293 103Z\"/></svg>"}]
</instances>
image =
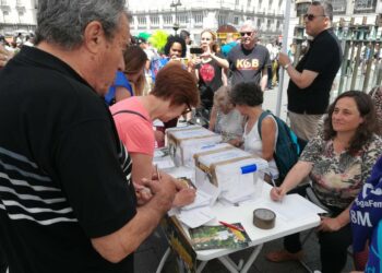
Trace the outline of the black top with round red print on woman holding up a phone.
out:
<instances>
[{"instance_id":1,"label":"black top with round red print on woman holding up a phone","mask_svg":"<svg viewBox=\"0 0 382 273\"><path fill-rule=\"evenodd\" d=\"M216 56L224 59L224 56L220 54L216 54ZM215 92L223 85L222 67L219 67L217 61L211 59L208 62L198 64L196 69L202 106L211 108L214 104Z\"/></svg>"}]
</instances>

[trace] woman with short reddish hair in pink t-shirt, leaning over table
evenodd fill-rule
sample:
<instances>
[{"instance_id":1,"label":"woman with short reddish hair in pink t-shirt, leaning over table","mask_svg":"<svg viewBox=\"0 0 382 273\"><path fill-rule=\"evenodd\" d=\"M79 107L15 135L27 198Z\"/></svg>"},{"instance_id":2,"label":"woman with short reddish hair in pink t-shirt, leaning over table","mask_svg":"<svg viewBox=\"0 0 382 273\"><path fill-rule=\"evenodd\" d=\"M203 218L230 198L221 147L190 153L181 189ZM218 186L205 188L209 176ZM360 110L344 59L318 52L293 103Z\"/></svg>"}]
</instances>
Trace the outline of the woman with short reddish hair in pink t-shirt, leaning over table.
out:
<instances>
[{"instance_id":1,"label":"woman with short reddish hair in pink t-shirt, leaning over table","mask_svg":"<svg viewBox=\"0 0 382 273\"><path fill-rule=\"evenodd\" d=\"M153 120L166 122L190 111L198 104L194 78L180 63L174 62L158 72L154 88L148 95L131 97L110 107L119 138L133 162L134 183L140 183L142 178L150 178L153 171ZM194 190L181 190L174 204L181 206L191 203L194 197Z\"/></svg>"}]
</instances>

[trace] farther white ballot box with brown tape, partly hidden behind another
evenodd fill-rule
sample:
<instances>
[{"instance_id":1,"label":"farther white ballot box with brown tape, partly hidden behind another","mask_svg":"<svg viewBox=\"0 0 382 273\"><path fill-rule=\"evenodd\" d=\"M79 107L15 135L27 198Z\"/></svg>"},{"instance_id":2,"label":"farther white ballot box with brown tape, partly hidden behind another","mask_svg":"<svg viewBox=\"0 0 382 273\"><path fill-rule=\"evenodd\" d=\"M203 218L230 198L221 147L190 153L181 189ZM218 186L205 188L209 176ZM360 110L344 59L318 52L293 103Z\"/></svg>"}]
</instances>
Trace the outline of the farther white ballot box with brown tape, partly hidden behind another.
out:
<instances>
[{"instance_id":1,"label":"farther white ballot box with brown tape, partly hidden behind another","mask_svg":"<svg viewBox=\"0 0 382 273\"><path fill-rule=\"evenodd\" d=\"M176 166L191 161L192 151L222 142L222 135L200 126L171 128L166 130L167 145Z\"/></svg>"}]
</instances>

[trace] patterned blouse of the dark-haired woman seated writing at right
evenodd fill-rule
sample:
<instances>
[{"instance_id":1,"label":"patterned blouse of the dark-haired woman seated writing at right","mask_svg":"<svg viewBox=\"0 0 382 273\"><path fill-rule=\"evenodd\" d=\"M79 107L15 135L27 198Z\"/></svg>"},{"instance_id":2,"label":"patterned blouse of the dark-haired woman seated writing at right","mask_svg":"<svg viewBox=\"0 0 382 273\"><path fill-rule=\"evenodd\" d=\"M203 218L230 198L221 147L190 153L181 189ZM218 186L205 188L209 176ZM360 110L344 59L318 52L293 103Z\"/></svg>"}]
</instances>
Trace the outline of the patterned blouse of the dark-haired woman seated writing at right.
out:
<instances>
[{"instance_id":1,"label":"patterned blouse of the dark-haired woman seated writing at right","mask_svg":"<svg viewBox=\"0 0 382 273\"><path fill-rule=\"evenodd\" d=\"M333 140L315 136L305 147L300 161L313 164L312 187L320 201L330 206L346 209L357 197L370 176L372 166L382 154L382 139L373 134L357 155L348 151L335 153Z\"/></svg>"}]
</instances>

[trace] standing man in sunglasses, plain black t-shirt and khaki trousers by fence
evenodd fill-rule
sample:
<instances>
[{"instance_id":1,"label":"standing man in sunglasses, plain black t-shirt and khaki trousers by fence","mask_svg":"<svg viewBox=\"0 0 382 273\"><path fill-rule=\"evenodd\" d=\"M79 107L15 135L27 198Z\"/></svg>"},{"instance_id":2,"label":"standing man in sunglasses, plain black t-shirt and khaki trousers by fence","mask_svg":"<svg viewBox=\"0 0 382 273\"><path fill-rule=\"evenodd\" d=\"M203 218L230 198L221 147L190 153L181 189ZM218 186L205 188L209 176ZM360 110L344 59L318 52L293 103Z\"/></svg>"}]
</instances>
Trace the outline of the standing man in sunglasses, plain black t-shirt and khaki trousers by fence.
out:
<instances>
[{"instance_id":1,"label":"standing man in sunglasses, plain black t-shirt and khaki trousers by fence","mask_svg":"<svg viewBox=\"0 0 382 273\"><path fill-rule=\"evenodd\" d=\"M342 49L331 25L333 7L326 1L313 1L303 16L306 32L313 37L310 48L296 68L286 54L279 54L279 64L290 76L288 111L290 127L303 140L317 134L318 123L325 112L333 80L341 67Z\"/></svg>"}]
</instances>

